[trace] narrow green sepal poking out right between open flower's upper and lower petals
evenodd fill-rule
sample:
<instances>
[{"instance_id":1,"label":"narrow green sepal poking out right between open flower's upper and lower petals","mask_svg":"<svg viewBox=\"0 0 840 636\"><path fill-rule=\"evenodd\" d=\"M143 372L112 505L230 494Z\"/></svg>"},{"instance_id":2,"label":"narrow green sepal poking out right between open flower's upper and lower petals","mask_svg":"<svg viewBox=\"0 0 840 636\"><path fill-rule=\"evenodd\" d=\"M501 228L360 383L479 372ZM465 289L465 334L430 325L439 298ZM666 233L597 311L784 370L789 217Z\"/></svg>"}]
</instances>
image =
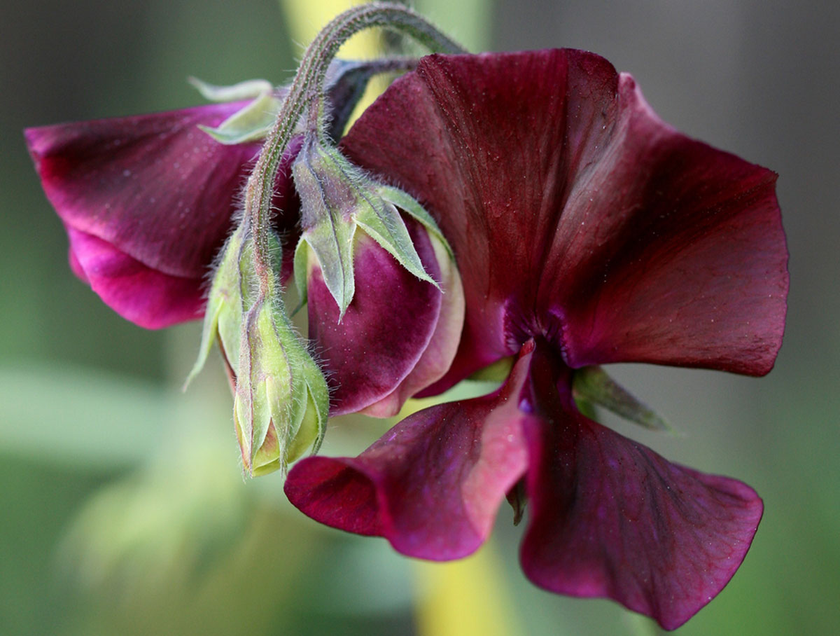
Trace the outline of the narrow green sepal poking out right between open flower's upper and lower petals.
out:
<instances>
[{"instance_id":1,"label":"narrow green sepal poking out right between open flower's upper and lower petals","mask_svg":"<svg viewBox=\"0 0 840 636\"><path fill-rule=\"evenodd\" d=\"M575 370L572 391L575 400L582 398L585 402L605 407L644 428L675 433L668 422L606 375L600 366L585 366Z\"/></svg>"}]
</instances>

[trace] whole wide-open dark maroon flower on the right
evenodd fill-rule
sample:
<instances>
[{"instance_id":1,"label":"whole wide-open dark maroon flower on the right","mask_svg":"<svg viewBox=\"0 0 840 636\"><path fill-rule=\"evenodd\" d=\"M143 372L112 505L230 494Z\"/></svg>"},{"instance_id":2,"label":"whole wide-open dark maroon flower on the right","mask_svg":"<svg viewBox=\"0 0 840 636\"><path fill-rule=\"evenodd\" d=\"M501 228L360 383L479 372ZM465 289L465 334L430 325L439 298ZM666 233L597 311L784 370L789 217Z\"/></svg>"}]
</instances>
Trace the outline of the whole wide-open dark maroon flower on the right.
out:
<instances>
[{"instance_id":1,"label":"whole wide-open dark maroon flower on the right","mask_svg":"<svg viewBox=\"0 0 840 636\"><path fill-rule=\"evenodd\" d=\"M446 560L522 493L538 586L684 623L738 569L761 500L585 418L571 383L610 362L770 370L788 286L774 173L678 133L574 50L431 56L343 147L455 252L465 331L433 390L518 358L490 396L416 413L358 458L302 460L291 502Z\"/></svg>"}]
</instances>

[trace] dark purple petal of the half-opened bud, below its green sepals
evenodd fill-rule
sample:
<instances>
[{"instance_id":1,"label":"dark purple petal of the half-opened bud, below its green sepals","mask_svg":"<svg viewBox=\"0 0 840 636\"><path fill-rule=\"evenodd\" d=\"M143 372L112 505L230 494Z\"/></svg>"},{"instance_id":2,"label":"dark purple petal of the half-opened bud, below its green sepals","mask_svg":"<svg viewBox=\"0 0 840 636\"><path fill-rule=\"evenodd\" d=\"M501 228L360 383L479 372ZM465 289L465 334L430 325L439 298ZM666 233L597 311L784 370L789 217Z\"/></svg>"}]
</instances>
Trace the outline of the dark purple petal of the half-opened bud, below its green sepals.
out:
<instances>
[{"instance_id":1,"label":"dark purple petal of the half-opened bud, below its green sepals","mask_svg":"<svg viewBox=\"0 0 840 636\"><path fill-rule=\"evenodd\" d=\"M414 221L407 227L428 274L439 280L428 233ZM355 241L355 294L340 322L318 267L307 288L309 338L335 389L332 415L368 407L402 383L427 349L442 304L437 287L407 271L370 236L357 230Z\"/></svg>"}]
</instances>

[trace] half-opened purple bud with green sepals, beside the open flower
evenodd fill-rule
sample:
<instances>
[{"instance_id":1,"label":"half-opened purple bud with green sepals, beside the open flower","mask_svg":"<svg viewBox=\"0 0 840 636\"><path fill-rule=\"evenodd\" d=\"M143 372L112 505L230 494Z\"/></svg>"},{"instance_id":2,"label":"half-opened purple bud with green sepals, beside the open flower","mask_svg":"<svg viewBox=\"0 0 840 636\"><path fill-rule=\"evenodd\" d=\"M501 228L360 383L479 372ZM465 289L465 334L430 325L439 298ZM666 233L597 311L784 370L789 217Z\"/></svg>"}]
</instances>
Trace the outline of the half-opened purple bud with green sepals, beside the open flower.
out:
<instances>
[{"instance_id":1,"label":"half-opened purple bud with green sepals, beside the open flower","mask_svg":"<svg viewBox=\"0 0 840 636\"><path fill-rule=\"evenodd\" d=\"M449 244L411 196L314 135L292 174L302 222L295 280L334 382L333 414L395 415L458 348L464 293Z\"/></svg>"}]
</instances>

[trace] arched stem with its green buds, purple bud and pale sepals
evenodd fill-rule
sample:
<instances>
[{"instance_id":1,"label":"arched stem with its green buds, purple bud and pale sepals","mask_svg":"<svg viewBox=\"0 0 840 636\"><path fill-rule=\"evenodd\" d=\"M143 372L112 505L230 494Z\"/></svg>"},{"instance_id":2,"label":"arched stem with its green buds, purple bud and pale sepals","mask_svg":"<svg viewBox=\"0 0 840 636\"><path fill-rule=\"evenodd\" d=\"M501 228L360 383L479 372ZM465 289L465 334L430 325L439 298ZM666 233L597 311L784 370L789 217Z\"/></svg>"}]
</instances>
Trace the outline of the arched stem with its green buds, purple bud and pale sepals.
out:
<instances>
[{"instance_id":1,"label":"arched stem with its green buds, purple bud and pale sepals","mask_svg":"<svg viewBox=\"0 0 840 636\"><path fill-rule=\"evenodd\" d=\"M326 358L333 378L333 413L375 415L395 414L407 397L437 381L457 350L464 295L437 224L406 192L365 176L334 146L370 76L414 64L333 60L346 39L373 26L402 29L433 50L463 51L411 10L371 3L349 9L318 34L289 87L273 90L260 80L233 87L193 81L208 99L249 100L218 126L202 128L213 139L224 145L265 139L245 188L239 227L218 257L190 375L202 368L217 340L234 386L244 468L252 476L285 471L307 448L315 452L321 444L330 396L311 346ZM311 281L325 284L335 303L321 302L323 295L309 303L314 345L297 334L286 313L281 240L271 229L281 157L296 136L302 148L291 173L302 234L295 281L302 304Z\"/></svg>"}]
</instances>

